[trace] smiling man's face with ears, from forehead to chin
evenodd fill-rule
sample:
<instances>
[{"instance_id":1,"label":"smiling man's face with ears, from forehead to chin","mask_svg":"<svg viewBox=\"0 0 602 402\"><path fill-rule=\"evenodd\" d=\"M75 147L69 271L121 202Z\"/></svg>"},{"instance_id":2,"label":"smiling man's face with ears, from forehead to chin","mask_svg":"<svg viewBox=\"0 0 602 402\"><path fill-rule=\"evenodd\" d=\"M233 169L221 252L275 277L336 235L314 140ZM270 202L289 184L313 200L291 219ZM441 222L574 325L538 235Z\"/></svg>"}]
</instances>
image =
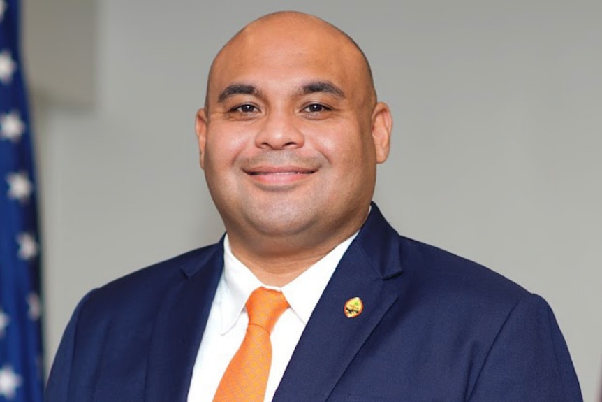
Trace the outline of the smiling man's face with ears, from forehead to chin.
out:
<instances>
[{"instance_id":1,"label":"smiling man's face with ears, from forehead to chin","mask_svg":"<svg viewBox=\"0 0 602 402\"><path fill-rule=\"evenodd\" d=\"M260 24L214 62L197 131L230 237L332 236L365 218L390 116L375 107L360 53L337 34Z\"/></svg>"}]
</instances>

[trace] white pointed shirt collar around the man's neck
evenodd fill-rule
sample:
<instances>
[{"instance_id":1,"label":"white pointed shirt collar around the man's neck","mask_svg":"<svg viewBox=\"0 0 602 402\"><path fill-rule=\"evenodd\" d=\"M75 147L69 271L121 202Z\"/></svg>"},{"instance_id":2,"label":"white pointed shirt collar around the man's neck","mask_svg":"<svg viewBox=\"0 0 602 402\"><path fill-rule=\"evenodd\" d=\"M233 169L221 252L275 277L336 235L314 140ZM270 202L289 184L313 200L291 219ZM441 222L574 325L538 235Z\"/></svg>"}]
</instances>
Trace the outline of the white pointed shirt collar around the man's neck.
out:
<instances>
[{"instance_id":1,"label":"white pointed shirt collar around the man's neck","mask_svg":"<svg viewBox=\"0 0 602 402\"><path fill-rule=\"evenodd\" d=\"M221 292L221 333L222 335L234 326L247 303L247 299L258 287L267 287L281 291L293 312L307 324L318 300L322 296L328 281L335 272L343 254L358 235L352 236L337 245L322 259L304 271L284 287L264 285L258 278L237 259L230 249L228 234L223 239L223 292Z\"/></svg>"}]
</instances>

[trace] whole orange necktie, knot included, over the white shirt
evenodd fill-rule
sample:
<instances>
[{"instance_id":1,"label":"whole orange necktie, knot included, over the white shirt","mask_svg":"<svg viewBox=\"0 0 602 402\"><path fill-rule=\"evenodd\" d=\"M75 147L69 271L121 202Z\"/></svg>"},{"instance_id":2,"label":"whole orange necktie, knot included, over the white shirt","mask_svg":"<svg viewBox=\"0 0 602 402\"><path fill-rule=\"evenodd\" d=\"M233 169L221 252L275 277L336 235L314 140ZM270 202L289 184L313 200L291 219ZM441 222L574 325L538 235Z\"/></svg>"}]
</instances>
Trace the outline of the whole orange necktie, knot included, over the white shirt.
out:
<instances>
[{"instance_id":1,"label":"whole orange necktie, knot included, over the white shirt","mask_svg":"<svg viewBox=\"0 0 602 402\"><path fill-rule=\"evenodd\" d=\"M288 308L284 294L258 287L247 300L249 326L223 374L213 402L263 402L272 365L270 332Z\"/></svg>"}]
</instances>

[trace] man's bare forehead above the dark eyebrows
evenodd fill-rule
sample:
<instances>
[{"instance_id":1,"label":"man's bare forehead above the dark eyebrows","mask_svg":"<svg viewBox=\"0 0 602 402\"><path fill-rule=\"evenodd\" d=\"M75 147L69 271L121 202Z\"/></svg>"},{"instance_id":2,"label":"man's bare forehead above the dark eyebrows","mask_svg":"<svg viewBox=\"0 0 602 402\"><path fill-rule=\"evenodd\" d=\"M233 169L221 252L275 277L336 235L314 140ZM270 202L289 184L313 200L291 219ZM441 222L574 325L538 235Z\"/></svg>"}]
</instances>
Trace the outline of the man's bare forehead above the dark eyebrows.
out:
<instances>
[{"instance_id":1,"label":"man's bare forehead above the dark eyebrows","mask_svg":"<svg viewBox=\"0 0 602 402\"><path fill-rule=\"evenodd\" d=\"M210 102L233 82L281 90L305 82L332 82L351 96L366 86L366 68L355 45L320 24L279 22L247 27L219 53L212 66Z\"/></svg>"}]
</instances>

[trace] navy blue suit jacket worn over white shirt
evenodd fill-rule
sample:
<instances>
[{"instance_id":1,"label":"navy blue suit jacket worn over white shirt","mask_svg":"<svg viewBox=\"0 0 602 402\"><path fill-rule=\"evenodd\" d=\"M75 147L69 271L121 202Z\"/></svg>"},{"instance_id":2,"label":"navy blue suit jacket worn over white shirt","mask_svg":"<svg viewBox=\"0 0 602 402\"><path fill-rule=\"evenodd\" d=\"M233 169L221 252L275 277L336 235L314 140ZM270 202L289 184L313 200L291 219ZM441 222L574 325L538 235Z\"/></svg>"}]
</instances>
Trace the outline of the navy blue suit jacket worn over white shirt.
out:
<instances>
[{"instance_id":1,"label":"navy blue suit jacket worn over white shirt","mask_svg":"<svg viewBox=\"0 0 602 402\"><path fill-rule=\"evenodd\" d=\"M184 402L223 243L96 289L54 360L47 402ZM353 296L364 302L344 315ZM274 401L582 401L541 297L400 237L373 204L328 283Z\"/></svg>"}]
</instances>

